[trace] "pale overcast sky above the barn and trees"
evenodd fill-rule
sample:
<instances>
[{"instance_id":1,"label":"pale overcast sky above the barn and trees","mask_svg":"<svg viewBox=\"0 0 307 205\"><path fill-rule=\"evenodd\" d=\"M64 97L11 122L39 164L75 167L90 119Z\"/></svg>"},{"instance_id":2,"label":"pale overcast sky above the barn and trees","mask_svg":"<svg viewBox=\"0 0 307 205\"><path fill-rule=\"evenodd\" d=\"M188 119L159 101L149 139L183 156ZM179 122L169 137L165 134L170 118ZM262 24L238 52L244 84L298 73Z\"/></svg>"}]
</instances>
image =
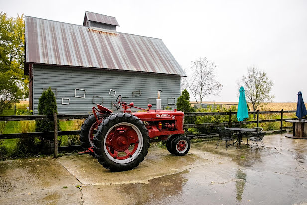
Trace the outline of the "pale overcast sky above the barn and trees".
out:
<instances>
[{"instance_id":1,"label":"pale overcast sky above the barn and trees","mask_svg":"<svg viewBox=\"0 0 307 205\"><path fill-rule=\"evenodd\" d=\"M207 57L223 89L206 101L237 101L252 65L272 79L275 102L307 99L307 0L0 0L0 10L78 25L85 11L110 15L119 32L161 38L185 68Z\"/></svg>"}]
</instances>

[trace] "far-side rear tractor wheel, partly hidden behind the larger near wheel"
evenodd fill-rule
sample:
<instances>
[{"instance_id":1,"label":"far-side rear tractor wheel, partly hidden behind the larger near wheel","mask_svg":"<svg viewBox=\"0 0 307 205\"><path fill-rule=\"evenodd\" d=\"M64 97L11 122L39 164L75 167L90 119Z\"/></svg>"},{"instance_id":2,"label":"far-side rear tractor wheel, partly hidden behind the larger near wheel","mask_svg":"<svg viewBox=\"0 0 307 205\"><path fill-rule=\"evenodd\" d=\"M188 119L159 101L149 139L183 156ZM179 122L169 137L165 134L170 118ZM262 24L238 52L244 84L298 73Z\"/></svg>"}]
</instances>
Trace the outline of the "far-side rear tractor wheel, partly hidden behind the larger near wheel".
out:
<instances>
[{"instance_id":1,"label":"far-side rear tractor wheel, partly hidden behind the larger near wheel","mask_svg":"<svg viewBox=\"0 0 307 205\"><path fill-rule=\"evenodd\" d=\"M93 147L93 139L96 133L98 125L103 121L103 118L108 115L102 113L96 113L99 121L97 122L95 115L89 115L87 119L83 122L81 126L81 131L79 133L79 140L81 142L82 149L87 150L89 147Z\"/></svg>"}]
</instances>

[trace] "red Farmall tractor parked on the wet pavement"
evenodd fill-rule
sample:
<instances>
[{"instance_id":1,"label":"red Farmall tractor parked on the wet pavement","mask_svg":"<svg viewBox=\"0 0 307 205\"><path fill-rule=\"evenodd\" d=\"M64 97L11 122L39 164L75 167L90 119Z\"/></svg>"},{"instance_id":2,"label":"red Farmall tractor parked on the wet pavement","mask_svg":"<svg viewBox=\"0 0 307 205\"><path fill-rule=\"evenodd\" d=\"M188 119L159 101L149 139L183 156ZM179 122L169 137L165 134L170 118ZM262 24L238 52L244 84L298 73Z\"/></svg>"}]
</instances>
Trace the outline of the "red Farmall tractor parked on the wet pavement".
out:
<instances>
[{"instance_id":1,"label":"red Farmall tractor parked on the wet pavement","mask_svg":"<svg viewBox=\"0 0 307 205\"><path fill-rule=\"evenodd\" d=\"M81 126L80 141L85 153L92 153L99 163L111 171L125 171L137 167L148 153L149 139L166 140L167 150L182 156L190 149L190 140L184 134L184 113L181 111L152 110L122 102L119 95L111 110L97 104ZM140 112L131 113L132 108Z\"/></svg>"}]
</instances>

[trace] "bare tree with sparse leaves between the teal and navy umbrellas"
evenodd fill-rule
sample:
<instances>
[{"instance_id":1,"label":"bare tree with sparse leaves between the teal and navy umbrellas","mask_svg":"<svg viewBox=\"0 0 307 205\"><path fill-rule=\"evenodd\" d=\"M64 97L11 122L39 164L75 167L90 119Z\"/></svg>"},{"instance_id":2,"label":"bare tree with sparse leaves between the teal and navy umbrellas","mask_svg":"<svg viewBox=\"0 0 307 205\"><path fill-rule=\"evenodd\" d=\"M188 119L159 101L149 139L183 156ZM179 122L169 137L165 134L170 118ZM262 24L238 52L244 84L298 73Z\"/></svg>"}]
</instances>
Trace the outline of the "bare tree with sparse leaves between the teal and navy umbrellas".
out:
<instances>
[{"instance_id":1,"label":"bare tree with sparse leaves between the teal and navy umbrellas","mask_svg":"<svg viewBox=\"0 0 307 205\"><path fill-rule=\"evenodd\" d=\"M247 75L243 75L239 86L243 85L247 101L252 104L253 111L272 102L274 95L271 94L273 82L264 71L255 66L247 69Z\"/></svg>"}]
</instances>

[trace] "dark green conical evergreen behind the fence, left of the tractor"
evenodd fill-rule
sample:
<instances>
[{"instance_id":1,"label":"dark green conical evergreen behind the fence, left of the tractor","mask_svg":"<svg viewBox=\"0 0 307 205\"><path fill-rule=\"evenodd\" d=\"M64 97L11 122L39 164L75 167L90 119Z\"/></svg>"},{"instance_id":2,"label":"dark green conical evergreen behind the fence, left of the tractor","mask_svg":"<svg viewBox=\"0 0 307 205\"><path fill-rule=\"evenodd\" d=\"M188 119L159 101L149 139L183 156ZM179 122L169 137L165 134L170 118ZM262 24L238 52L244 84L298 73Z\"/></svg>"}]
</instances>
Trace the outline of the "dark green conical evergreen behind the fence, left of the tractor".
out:
<instances>
[{"instance_id":1,"label":"dark green conical evergreen behind the fence, left of the tractor","mask_svg":"<svg viewBox=\"0 0 307 205\"><path fill-rule=\"evenodd\" d=\"M38 101L38 114L39 115L53 115L57 111L57 103L55 100L54 93L49 87L42 93ZM48 132L54 130L53 120L38 120L36 122L35 132ZM58 130L61 130L60 121L58 120ZM45 138L46 139L46 138ZM48 139L48 138L47 138Z\"/></svg>"}]
</instances>

